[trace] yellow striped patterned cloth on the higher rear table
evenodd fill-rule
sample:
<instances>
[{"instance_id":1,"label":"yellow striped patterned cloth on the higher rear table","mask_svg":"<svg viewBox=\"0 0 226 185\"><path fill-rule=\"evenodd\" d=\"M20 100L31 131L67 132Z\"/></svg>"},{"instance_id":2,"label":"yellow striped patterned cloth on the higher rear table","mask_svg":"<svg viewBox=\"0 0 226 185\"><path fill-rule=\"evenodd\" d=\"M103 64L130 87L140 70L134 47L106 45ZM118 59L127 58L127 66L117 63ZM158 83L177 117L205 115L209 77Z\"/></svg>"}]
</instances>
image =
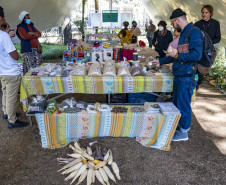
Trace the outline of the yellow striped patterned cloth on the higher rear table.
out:
<instances>
[{"instance_id":1,"label":"yellow striped patterned cloth on the higher rear table","mask_svg":"<svg viewBox=\"0 0 226 185\"><path fill-rule=\"evenodd\" d=\"M141 93L172 92L172 75L153 75L135 77L41 77L23 76L20 87L20 101L27 109L27 98L31 95L53 93Z\"/></svg>"}]
</instances>

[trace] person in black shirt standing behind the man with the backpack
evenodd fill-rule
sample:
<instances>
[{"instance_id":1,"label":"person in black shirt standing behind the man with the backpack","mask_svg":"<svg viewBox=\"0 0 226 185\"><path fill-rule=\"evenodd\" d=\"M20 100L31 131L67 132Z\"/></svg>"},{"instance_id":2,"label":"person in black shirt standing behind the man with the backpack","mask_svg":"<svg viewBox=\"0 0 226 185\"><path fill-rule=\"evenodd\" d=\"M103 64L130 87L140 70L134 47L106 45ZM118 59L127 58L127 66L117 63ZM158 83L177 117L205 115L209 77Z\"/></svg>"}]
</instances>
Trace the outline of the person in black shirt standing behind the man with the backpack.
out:
<instances>
[{"instance_id":1,"label":"person in black shirt standing behind the man with the backpack","mask_svg":"<svg viewBox=\"0 0 226 185\"><path fill-rule=\"evenodd\" d=\"M204 5L201 9L202 19L195 23L200 30L208 33L213 44L217 44L221 40L220 23L213 19L213 7L211 5ZM202 84L204 75L199 74L197 89Z\"/></svg>"}]
</instances>

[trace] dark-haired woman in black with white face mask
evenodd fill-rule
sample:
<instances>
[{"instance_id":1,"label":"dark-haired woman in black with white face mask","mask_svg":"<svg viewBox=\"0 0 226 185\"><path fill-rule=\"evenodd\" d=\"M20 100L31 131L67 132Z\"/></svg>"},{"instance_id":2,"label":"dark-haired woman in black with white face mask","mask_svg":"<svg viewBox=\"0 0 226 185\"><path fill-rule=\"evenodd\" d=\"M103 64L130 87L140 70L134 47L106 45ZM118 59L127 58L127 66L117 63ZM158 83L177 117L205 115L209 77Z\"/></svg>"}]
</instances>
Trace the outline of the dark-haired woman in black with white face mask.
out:
<instances>
[{"instance_id":1,"label":"dark-haired woman in black with white face mask","mask_svg":"<svg viewBox=\"0 0 226 185\"><path fill-rule=\"evenodd\" d=\"M158 23L158 30L155 32L153 39L155 51L159 53L160 58L166 56L164 50L166 51L169 43L173 41L173 35L171 31L166 29L166 25L165 21L160 21Z\"/></svg>"}]
</instances>

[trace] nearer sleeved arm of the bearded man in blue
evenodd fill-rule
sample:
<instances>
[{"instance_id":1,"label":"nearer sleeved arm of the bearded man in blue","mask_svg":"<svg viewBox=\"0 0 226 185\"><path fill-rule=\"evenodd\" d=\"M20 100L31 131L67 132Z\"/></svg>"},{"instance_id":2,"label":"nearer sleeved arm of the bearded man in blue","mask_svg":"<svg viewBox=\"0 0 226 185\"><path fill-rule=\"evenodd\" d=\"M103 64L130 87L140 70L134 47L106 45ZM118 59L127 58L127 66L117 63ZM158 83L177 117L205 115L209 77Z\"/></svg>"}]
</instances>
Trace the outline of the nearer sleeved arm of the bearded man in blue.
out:
<instances>
[{"instance_id":1,"label":"nearer sleeved arm of the bearded man in blue","mask_svg":"<svg viewBox=\"0 0 226 185\"><path fill-rule=\"evenodd\" d=\"M179 53L177 58L183 62L197 62L202 58L203 35L199 29L193 29L190 33L189 52Z\"/></svg>"}]
</instances>

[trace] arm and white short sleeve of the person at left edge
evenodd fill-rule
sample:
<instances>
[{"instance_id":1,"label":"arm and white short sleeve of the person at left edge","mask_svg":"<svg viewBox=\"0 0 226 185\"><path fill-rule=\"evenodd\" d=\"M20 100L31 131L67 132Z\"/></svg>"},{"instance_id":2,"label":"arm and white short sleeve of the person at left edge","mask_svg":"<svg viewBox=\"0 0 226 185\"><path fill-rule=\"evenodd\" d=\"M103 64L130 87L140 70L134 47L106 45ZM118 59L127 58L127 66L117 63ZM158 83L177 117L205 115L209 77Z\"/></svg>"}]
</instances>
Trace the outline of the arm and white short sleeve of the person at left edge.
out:
<instances>
[{"instance_id":1,"label":"arm and white short sleeve of the person at left edge","mask_svg":"<svg viewBox=\"0 0 226 185\"><path fill-rule=\"evenodd\" d=\"M15 46L13 45L12 40L10 39L10 36L8 33L5 33L4 37L2 38L2 46L5 49L7 53L14 59L19 59L19 53L17 52Z\"/></svg>"}]
</instances>

